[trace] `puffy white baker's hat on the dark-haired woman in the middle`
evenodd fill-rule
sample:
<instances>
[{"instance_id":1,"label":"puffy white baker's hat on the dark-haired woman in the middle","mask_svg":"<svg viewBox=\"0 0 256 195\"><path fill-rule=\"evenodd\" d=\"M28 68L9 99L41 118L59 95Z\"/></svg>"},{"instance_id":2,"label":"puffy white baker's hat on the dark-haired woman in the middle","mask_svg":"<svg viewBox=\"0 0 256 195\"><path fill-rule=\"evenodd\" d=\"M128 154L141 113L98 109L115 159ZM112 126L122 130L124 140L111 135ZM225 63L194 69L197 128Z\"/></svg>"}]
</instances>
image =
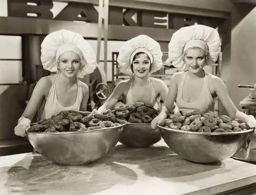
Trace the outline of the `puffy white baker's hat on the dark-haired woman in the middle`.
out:
<instances>
[{"instance_id":1,"label":"puffy white baker's hat on the dark-haired woman in the middle","mask_svg":"<svg viewBox=\"0 0 256 195\"><path fill-rule=\"evenodd\" d=\"M125 75L132 75L131 64L134 56L144 52L150 58L152 63L151 72L159 70L162 65L162 52L160 44L146 35L139 35L126 41L119 50L117 58L120 71Z\"/></svg>"}]
</instances>

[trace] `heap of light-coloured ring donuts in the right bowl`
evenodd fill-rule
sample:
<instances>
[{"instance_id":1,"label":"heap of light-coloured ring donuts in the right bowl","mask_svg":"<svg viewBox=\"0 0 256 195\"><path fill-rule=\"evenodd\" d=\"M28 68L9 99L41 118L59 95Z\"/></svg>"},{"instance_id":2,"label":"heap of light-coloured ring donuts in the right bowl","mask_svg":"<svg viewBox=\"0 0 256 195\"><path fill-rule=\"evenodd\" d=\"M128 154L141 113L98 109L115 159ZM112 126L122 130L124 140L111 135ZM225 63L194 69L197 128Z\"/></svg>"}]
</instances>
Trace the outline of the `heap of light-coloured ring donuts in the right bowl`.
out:
<instances>
[{"instance_id":1,"label":"heap of light-coloured ring donuts in the right bowl","mask_svg":"<svg viewBox=\"0 0 256 195\"><path fill-rule=\"evenodd\" d=\"M200 110L187 112L184 116L181 113L170 114L159 125L174 130L204 133L228 133L250 129L240 119L232 120L226 115L217 116L213 112Z\"/></svg>"}]
</instances>

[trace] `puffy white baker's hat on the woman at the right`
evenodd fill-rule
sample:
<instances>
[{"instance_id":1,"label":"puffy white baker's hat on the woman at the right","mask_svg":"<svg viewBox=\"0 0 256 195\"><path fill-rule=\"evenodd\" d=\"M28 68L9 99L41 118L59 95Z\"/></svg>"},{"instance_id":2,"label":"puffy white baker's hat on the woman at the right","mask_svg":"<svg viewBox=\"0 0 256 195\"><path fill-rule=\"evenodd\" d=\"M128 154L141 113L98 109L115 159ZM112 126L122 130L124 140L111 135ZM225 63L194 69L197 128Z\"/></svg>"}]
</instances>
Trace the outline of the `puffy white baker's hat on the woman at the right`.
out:
<instances>
[{"instance_id":1,"label":"puffy white baker's hat on the woman at the right","mask_svg":"<svg viewBox=\"0 0 256 195\"><path fill-rule=\"evenodd\" d=\"M215 63L221 51L217 30L204 25L183 27L176 31L168 45L168 57L179 70L186 70L183 53L190 47L200 47L210 57L208 65Z\"/></svg>"}]
</instances>

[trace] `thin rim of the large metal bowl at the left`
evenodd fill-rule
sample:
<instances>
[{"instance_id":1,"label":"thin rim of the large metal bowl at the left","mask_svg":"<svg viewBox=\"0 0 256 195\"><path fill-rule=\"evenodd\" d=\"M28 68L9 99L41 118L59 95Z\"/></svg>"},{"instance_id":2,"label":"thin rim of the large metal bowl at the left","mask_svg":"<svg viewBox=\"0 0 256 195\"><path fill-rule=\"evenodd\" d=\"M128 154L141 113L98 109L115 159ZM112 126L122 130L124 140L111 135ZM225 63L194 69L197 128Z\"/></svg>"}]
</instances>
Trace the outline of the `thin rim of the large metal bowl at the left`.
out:
<instances>
[{"instance_id":1,"label":"thin rim of the large metal bowl at the left","mask_svg":"<svg viewBox=\"0 0 256 195\"><path fill-rule=\"evenodd\" d=\"M119 119L121 120L121 119ZM124 121L125 123L120 124L119 126L115 126L115 127L108 127L108 128L103 128L103 129L93 129L90 131L62 131L62 132L26 132L26 134L36 134L36 135L49 135L49 134L54 134L54 135L66 135L66 134L78 134L78 133L92 133L92 132L97 132L97 131L108 131L108 130L112 130L112 129L119 129L120 127L123 127L127 124L126 120L121 120Z\"/></svg>"}]
</instances>

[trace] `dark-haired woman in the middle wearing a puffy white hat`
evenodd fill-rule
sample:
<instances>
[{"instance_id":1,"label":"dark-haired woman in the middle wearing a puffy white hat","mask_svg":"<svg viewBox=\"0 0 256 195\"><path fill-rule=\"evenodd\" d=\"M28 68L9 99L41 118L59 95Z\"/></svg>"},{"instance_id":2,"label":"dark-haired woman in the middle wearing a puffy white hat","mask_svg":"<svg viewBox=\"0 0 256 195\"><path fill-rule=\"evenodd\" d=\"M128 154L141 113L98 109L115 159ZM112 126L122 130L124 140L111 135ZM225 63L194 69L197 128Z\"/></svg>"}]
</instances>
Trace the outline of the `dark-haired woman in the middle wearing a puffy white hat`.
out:
<instances>
[{"instance_id":1,"label":"dark-haired woman in the middle wearing a puffy white hat","mask_svg":"<svg viewBox=\"0 0 256 195\"><path fill-rule=\"evenodd\" d=\"M118 83L98 113L113 108L122 95L126 97L126 105L143 102L157 109L158 97L164 100L168 88L162 80L150 76L162 67L162 55L159 43L146 35L126 41L120 48L117 62L120 71L132 78Z\"/></svg>"}]
</instances>

